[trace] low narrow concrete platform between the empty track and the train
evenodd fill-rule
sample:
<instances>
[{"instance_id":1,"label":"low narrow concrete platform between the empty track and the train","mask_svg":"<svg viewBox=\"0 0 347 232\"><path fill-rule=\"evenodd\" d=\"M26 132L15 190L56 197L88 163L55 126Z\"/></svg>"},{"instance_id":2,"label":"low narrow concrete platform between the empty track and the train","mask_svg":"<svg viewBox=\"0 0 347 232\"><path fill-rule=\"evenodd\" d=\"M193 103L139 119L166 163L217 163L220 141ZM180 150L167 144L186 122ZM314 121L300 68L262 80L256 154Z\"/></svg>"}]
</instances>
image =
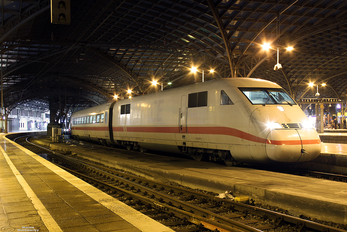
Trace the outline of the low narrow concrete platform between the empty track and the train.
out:
<instances>
[{"instance_id":1,"label":"low narrow concrete platform between the empty track and the train","mask_svg":"<svg viewBox=\"0 0 347 232\"><path fill-rule=\"evenodd\" d=\"M52 143L42 138L37 142L158 182L172 181L217 194L232 191L236 196L247 195L256 203L300 212L319 220L347 224L347 183L274 173L247 166L228 167L187 159L184 155L153 155L87 143ZM71 147L71 144L76 146Z\"/></svg>"}]
</instances>

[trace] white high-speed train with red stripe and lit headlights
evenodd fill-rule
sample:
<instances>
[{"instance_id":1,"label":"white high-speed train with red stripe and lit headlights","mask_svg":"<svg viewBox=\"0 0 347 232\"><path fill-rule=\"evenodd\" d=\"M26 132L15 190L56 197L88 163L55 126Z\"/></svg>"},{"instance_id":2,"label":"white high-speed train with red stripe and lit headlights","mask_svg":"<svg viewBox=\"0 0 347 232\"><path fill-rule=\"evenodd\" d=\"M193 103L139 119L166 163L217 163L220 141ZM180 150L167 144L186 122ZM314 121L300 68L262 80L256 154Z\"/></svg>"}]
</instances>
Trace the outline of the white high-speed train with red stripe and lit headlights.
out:
<instances>
[{"instance_id":1,"label":"white high-speed train with red stripe and lit headlights","mask_svg":"<svg viewBox=\"0 0 347 232\"><path fill-rule=\"evenodd\" d=\"M181 152L196 160L300 163L321 141L295 101L276 83L223 78L112 101L75 112L77 139L127 149Z\"/></svg>"}]
</instances>

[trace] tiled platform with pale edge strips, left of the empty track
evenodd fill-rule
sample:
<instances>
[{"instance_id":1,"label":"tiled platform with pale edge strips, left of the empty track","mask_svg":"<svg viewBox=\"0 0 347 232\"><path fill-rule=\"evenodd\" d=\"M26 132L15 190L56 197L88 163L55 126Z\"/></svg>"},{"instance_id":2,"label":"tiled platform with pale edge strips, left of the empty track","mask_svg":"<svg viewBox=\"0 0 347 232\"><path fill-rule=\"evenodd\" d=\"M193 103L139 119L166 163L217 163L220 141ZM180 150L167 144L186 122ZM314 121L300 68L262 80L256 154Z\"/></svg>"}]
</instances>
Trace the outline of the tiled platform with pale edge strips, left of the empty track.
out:
<instances>
[{"instance_id":1,"label":"tiled platform with pale edge strips, left of the empty track","mask_svg":"<svg viewBox=\"0 0 347 232\"><path fill-rule=\"evenodd\" d=\"M0 230L173 232L0 133Z\"/></svg>"}]
</instances>

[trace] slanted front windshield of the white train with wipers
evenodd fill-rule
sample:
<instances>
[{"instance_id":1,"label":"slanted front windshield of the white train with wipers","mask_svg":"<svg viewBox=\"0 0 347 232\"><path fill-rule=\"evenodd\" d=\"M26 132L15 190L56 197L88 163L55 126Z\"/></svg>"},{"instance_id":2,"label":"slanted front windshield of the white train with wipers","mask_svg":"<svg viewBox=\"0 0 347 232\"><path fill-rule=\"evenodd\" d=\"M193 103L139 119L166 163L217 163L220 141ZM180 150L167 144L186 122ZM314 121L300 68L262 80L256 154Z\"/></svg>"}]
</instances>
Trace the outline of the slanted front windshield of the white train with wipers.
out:
<instances>
[{"instance_id":1,"label":"slanted front windshield of the white train with wipers","mask_svg":"<svg viewBox=\"0 0 347 232\"><path fill-rule=\"evenodd\" d=\"M283 89L276 88L239 88L252 104L288 104L296 105L295 101Z\"/></svg>"}]
</instances>

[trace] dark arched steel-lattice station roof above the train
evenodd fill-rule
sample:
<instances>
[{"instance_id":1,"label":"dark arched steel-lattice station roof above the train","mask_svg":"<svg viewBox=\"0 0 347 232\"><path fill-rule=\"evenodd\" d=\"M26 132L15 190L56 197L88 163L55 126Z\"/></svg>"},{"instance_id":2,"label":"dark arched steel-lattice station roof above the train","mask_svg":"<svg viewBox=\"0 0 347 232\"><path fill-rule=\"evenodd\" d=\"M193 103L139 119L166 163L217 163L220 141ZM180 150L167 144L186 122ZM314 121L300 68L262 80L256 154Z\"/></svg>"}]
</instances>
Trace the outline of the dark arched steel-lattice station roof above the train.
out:
<instances>
[{"instance_id":1,"label":"dark arched steel-lattice station roof above the train","mask_svg":"<svg viewBox=\"0 0 347 232\"><path fill-rule=\"evenodd\" d=\"M136 95L160 91L161 83L201 82L202 70L205 81L273 81L296 99L315 97L310 82L324 98L346 98L346 1L71 0L70 25L51 23L50 1L1 2L7 108L52 96L90 106L128 89Z\"/></svg>"}]
</instances>

